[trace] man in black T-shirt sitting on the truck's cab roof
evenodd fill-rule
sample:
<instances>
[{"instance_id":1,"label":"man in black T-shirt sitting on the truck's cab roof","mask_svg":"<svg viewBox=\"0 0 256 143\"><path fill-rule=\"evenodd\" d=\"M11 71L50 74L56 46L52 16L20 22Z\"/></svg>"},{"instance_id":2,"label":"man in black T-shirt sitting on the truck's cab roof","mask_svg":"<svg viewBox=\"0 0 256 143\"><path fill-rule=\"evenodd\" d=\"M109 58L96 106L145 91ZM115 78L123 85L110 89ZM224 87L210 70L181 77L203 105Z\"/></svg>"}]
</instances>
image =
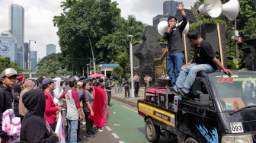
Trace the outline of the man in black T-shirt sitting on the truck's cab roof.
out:
<instances>
[{"instance_id":1,"label":"man in black T-shirt sitting on the truck's cab roof","mask_svg":"<svg viewBox=\"0 0 256 143\"><path fill-rule=\"evenodd\" d=\"M215 71L218 66L226 74L233 75L232 71L226 69L222 63L219 62L211 44L206 40L203 40L197 30L188 32L187 38L190 43L195 45L194 59L191 59L190 62L183 65L174 87L166 86L169 91L175 91L178 94L181 94L182 97L187 97L189 89L194 83L194 80L197 77L197 72L199 71Z\"/></svg>"}]
</instances>

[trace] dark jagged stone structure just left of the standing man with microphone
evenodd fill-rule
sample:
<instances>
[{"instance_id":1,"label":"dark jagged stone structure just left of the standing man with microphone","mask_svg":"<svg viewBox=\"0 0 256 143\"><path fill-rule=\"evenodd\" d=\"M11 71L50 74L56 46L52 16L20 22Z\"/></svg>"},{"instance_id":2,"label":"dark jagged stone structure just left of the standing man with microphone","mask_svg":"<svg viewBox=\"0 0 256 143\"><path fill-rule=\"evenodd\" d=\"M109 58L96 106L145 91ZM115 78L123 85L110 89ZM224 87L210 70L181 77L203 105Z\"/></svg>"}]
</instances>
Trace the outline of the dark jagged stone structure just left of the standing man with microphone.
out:
<instances>
[{"instance_id":1,"label":"dark jagged stone structure just left of the standing man with microphone","mask_svg":"<svg viewBox=\"0 0 256 143\"><path fill-rule=\"evenodd\" d=\"M158 43L158 31L155 26L147 26L142 34L143 42L139 44L139 48L133 52L133 55L139 59L139 68L135 68L144 82L146 74L152 77L152 85L155 84L155 65L154 59L162 55L162 47Z\"/></svg>"}]
</instances>

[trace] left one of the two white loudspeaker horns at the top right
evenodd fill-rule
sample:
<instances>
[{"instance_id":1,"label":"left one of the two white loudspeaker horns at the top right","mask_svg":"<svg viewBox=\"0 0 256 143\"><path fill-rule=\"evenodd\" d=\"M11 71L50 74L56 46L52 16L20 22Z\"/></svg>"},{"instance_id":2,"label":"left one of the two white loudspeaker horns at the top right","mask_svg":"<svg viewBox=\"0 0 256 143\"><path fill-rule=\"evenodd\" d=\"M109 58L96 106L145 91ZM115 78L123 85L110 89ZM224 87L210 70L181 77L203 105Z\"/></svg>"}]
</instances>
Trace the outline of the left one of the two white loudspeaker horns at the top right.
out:
<instances>
[{"instance_id":1,"label":"left one of the two white loudspeaker horns at the top right","mask_svg":"<svg viewBox=\"0 0 256 143\"><path fill-rule=\"evenodd\" d=\"M220 0L205 0L204 4L201 5L197 12L200 14L209 14L210 17L219 17L222 12L222 3Z\"/></svg>"}]
</instances>

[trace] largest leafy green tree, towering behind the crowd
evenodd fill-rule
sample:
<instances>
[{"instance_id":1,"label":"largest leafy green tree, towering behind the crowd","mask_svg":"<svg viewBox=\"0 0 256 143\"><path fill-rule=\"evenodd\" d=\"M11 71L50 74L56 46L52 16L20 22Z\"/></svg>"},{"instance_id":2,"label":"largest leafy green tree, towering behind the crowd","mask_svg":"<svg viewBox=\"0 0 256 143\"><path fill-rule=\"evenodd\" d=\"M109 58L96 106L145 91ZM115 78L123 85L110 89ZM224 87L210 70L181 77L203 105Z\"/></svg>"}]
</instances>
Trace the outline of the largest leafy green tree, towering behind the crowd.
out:
<instances>
[{"instance_id":1,"label":"largest leafy green tree, towering behind the crowd","mask_svg":"<svg viewBox=\"0 0 256 143\"><path fill-rule=\"evenodd\" d=\"M89 58L102 62L103 48L96 49L96 43L102 37L114 32L114 22L120 17L117 2L110 0L81 0L66 1L62 3L63 13L53 17L53 23L59 28L59 46L64 57L69 57L66 62L68 69L80 69L88 63ZM92 49L92 50L91 50ZM78 62L75 59L87 59Z\"/></svg>"}]
</instances>

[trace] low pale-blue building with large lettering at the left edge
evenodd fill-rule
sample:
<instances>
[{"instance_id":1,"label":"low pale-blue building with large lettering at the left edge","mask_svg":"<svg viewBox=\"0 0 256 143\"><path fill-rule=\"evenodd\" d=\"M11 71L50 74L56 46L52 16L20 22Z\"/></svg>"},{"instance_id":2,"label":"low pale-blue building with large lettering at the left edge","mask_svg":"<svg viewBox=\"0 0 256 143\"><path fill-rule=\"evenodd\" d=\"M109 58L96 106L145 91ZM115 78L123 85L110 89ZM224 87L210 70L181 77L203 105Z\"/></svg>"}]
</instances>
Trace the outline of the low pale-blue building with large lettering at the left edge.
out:
<instances>
[{"instance_id":1,"label":"low pale-blue building with large lettering at the left edge","mask_svg":"<svg viewBox=\"0 0 256 143\"><path fill-rule=\"evenodd\" d=\"M0 34L0 56L10 57L11 61L18 61L17 40L9 31ZM0 63L1 64L1 63Z\"/></svg>"}]
</instances>

